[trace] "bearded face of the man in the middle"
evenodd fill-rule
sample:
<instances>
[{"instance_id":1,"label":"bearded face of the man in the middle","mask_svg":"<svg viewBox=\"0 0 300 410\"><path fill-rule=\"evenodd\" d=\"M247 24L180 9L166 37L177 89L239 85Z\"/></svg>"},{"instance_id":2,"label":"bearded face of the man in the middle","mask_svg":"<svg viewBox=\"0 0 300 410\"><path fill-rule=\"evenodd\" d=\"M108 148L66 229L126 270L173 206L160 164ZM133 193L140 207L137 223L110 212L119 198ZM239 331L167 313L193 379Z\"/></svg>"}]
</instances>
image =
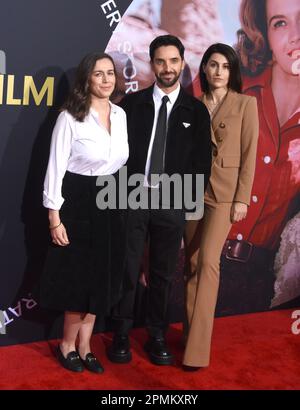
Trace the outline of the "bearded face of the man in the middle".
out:
<instances>
[{"instance_id":1,"label":"bearded face of the man in the middle","mask_svg":"<svg viewBox=\"0 0 300 410\"><path fill-rule=\"evenodd\" d=\"M151 67L160 88L175 89L184 69L184 61L177 47L161 46L155 50Z\"/></svg>"}]
</instances>

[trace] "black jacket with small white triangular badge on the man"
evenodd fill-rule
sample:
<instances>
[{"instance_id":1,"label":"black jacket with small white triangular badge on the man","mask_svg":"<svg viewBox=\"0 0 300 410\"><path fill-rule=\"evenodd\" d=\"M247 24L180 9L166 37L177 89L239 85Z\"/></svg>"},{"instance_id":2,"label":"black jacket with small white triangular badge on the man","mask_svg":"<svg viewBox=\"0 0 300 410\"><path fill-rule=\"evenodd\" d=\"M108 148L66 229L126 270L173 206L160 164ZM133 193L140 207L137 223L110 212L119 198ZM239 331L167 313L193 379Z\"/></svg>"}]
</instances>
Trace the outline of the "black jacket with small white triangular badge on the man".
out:
<instances>
[{"instance_id":1,"label":"black jacket with small white triangular badge on the man","mask_svg":"<svg viewBox=\"0 0 300 410\"><path fill-rule=\"evenodd\" d=\"M144 174L153 128L154 101L152 85L126 95L120 106L127 114L129 158L128 176ZM204 174L205 188L211 169L210 116L205 105L181 87L169 116L164 173ZM194 184L193 184L194 185ZM195 186L193 186L193 192Z\"/></svg>"}]
</instances>

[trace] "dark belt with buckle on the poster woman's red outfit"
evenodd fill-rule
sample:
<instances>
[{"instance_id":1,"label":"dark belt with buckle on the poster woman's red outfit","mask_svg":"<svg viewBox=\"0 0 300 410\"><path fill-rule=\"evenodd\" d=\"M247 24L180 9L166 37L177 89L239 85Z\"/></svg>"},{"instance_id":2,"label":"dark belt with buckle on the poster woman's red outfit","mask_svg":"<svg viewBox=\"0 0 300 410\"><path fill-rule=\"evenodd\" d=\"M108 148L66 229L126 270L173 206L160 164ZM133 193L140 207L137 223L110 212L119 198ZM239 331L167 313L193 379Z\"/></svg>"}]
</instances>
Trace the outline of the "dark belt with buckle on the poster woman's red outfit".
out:
<instances>
[{"instance_id":1,"label":"dark belt with buckle on the poster woman's red outfit","mask_svg":"<svg viewBox=\"0 0 300 410\"><path fill-rule=\"evenodd\" d=\"M246 263L250 258L266 259L274 254L269 249L253 245L251 242L227 239L222 249L226 259Z\"/></svg>"}]
</instances>

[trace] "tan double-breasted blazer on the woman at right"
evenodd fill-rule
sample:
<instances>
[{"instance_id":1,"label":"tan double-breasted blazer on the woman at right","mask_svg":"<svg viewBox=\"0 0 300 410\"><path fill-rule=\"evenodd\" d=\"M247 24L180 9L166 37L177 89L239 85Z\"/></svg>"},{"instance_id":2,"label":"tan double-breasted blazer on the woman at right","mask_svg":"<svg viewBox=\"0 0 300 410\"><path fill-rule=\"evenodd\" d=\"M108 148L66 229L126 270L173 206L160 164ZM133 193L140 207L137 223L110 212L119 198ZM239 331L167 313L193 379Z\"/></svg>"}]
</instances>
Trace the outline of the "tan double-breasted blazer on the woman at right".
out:
<instances>
[{"instance_id":1,"label":"tan double-breasted blazer on the woman at right","mask_svg":"<svg viewBox=\"0 0 300 410\"><path fill-rule=\"evenodd\" d=\"M206 96L201 100L205 104ZM229 91L212 119L209 181L217 202L250 204L258 129L256 98Z\"/></svg>"}]
</instances>

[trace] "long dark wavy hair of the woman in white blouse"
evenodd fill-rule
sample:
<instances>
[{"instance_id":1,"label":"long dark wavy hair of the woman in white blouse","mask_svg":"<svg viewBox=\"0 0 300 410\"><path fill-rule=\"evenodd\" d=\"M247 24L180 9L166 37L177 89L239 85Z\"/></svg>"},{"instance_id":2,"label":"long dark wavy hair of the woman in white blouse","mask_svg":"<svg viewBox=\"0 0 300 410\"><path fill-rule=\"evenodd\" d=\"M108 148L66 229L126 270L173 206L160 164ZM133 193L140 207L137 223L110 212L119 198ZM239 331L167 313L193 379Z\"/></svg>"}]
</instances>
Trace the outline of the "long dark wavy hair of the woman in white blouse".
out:
<instances>
[{"instance_id":1,"label":"long dark wavy hair of the woman in white blouse","mask_svg":"<svg viewBox=\"0 0 300 410\"><path fill-rule=\"evenodd\" d=\"M89 80L96 62L98 60L103 60L104 58L107 58L112 62L116 73L115 62L112 57L109 54L101 52L87 54L77 67L74 86L71 89L66 102L62 106L62 110L67 110L77 121L82 122L89 112L91 105ZM117 83L115 90L116 87Z\"/></svg>"}]
</instances>

